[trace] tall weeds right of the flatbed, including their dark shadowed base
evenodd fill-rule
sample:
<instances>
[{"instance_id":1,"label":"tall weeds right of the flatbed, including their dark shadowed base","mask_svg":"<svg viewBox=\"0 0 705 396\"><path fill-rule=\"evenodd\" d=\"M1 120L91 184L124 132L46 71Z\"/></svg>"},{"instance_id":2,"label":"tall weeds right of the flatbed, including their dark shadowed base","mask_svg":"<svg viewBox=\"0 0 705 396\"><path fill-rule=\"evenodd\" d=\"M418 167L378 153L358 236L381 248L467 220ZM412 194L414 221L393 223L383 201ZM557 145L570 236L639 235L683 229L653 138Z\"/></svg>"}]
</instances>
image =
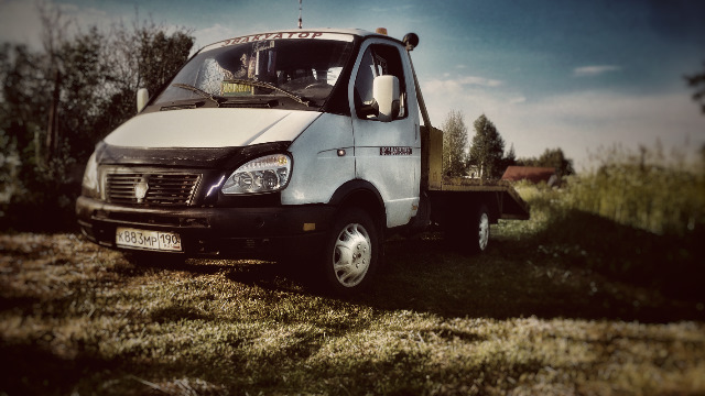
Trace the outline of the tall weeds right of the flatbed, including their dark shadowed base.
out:
<instances>
[{"instance_id":1,"label":"tall weeds right of the flatbed, including their dark shadowed base","mask_svg":"<svg viewBox=\"0 0 705 396\"><path fill-rule=\"evenodd\" d=\"M527 244L563 246L571 263L611 278L702 300L705 175L660 148L603 153L562 188L518 184L535 232ZM552 249L553 249L552 248Z\"/></svg>"}]
</instances>

